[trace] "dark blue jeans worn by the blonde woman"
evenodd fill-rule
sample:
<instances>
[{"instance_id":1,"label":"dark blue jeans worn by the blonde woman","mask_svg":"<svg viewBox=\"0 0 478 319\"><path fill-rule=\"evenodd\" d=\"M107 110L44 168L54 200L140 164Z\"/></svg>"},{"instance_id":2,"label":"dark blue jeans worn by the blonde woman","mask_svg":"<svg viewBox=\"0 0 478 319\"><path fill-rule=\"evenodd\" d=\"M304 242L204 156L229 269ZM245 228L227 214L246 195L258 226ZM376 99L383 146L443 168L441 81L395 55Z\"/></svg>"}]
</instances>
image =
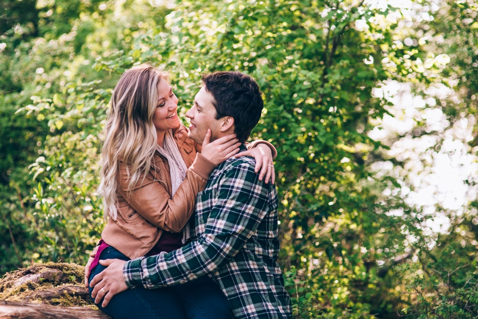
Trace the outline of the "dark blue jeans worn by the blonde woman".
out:
<instances>
[{"instance_id":1,"label":"dark blue jeans worn by the blonde woman","mask_svg":"<svg viewBox=\"0 0 478 319\"><path fill-rule=\"evenodd\" d=\"M103 250L100 259L129 260L113 247ZM89 281L105 268L98 264L92 269ZM89 288L90 297L92 291ZM113 318L231 318L229 301L219 286L207 276L155 290L139 287L128 289L115 295L107 307L101 307L101 302L97 306Z\"/></svg>"}]
</instances>

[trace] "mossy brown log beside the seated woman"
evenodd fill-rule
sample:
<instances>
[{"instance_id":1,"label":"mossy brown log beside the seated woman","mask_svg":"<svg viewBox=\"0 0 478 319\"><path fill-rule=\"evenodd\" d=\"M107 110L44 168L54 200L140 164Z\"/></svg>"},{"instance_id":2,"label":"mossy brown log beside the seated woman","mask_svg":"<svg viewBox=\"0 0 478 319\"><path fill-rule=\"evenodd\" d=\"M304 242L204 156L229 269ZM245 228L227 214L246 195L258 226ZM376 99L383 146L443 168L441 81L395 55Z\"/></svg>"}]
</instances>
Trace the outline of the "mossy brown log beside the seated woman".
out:
<instances>
[{"instance_id":1,"label":"mossy brown log beside the seated woman","mask_svg":"<svg viewBox=\"0 0 478 319\"><path fill-rule=\"evenodd\" d=\"M35 264L0 279L0 318L109 318L83 284L83 266Z\"/></svg>"}]
</instances>

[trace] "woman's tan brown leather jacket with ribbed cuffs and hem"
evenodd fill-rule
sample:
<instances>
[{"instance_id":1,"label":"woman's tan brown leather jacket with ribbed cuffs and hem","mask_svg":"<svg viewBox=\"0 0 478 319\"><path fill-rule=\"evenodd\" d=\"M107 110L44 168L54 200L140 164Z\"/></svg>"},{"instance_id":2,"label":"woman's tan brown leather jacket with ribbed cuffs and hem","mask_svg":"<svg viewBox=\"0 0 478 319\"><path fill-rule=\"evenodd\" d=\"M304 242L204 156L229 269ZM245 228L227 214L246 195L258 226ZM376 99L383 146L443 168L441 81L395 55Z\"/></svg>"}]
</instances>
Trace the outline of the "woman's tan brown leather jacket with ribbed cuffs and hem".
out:
<instances>
[{"instance_id":1,"label":"woman's tan brown leather jacket with ribbed cuffs and hem","mask_svg":"<svg viewBox=\"0 0 478 319\"><path fill-rule=\"evenodd\" d=\"M180 232L196 208L196 195L204 189L216 165L198 152L198 144L188 137L182 125L173 131L174 140L189 169L186 178L171 198L171 176L167 159L159 152L154 165L144 180L128 191L128 176L123 163L117 175L119 194L117 218L108 218L102 239L130 259L144 256L158 242L163 230ZM274 146L265 141L254 141L248 148L266 143L277 155ZM140 176L139 180L142 180Z\"/></svg>"}]
</instances>

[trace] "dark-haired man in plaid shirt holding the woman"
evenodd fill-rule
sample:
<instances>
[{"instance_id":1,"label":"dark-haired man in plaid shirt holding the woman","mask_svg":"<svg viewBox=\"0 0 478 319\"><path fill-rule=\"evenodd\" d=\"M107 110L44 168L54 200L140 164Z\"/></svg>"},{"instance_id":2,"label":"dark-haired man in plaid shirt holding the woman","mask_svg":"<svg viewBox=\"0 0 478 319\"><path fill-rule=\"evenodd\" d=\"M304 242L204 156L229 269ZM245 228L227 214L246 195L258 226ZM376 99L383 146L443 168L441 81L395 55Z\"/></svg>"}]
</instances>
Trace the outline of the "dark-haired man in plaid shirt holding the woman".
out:
<instances>
[{"instance_id":1,"label":"dark-haired man in plaid shirt holding the woman","mask_svg":"<svg viewBox=\"0 0 478 319\"><path fill-rule=\"evenodd\" d=\"M235 133L244 143L259 121L263 101L257 83L238 72L202 77L190 118L197 143L211 129L211 140ZM242 146L243 150L246 147ZM129 262L101 261L109 267L91 283L95 302L128 288L160 288L212 276L236 318L291 317L291 303L277 264L277 192L259 181L254 159L229 158L210 175L197 196L191 239L181 249Z\"/></svg>"}]
</instances>

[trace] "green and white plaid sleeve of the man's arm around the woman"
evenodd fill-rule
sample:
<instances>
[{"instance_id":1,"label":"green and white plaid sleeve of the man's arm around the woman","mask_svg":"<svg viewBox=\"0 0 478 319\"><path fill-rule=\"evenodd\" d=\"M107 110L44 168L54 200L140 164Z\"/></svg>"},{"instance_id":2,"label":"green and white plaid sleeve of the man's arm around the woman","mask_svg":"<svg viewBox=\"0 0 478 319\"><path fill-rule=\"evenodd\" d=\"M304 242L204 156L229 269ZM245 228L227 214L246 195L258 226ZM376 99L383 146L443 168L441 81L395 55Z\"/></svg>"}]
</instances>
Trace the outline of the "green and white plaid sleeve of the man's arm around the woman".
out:
<instances>
[{"instance_id":1,"label":"green and white plaid sleeve of the man's arm around the woman","mask_svg":"<svg viewBox=\"0 0 478 319\"><path fill-rule=\"evenodd\" d=\"M216 192L208 200L213 201L211 212L199 238L172 252L127 262L123 274L130 288L190 281L212 273L244 247L267 213L270 187L258 181L246 159L236 158L228 165L214 184Z\"/></svg>"}]
</instances>

